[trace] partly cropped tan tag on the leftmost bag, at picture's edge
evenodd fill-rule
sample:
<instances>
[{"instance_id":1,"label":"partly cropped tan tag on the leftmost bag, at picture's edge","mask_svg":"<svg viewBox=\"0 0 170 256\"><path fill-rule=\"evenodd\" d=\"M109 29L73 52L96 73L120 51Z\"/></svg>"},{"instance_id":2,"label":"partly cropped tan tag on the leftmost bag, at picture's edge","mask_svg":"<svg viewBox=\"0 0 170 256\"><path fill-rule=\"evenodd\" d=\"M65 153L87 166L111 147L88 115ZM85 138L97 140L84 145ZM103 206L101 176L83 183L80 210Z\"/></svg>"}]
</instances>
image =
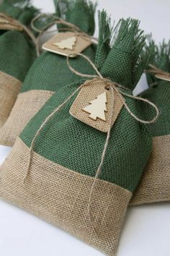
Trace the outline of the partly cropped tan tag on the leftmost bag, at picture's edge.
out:
<instances>
[{"instance_id":1,"label":"partly cropped tan tag on the leftmost bag, at picture's edge","mask_svg":"<svg viewBox=\"0 0 170 256\"><path fill-rule=\"evenodd\" d=\"M23 27L22 25L19 25L19 23L12 18L7 17L1 17L0 16L0 30L18 30L22 31Z\"/></svg>"}]
</instances>

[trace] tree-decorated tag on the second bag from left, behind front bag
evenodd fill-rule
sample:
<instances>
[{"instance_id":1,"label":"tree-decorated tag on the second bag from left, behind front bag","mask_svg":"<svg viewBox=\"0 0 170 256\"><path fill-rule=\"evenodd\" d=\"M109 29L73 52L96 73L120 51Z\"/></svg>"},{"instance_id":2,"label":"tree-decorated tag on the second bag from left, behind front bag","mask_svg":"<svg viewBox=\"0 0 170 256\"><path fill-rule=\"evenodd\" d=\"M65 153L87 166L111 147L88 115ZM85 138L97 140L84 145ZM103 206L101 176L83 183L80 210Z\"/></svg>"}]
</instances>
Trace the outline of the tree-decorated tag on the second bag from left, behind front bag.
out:
<instances>
[{"instance_id":1,"label":"tree-decorated tag on the second bag from left, behind front bag","mask_svg":"<svg viewBox=\"0 0 170 256\"><path fill-rule=\"evenodd\" d=\"M92 41L89 38L85 38L83 35L73 32L58 33L53 38L44 43L42 48L45 51L51 51L55 54L61 54L68 56L73 54L75 56L81 53L91 45Z\"/></svg>"}]
</instances>

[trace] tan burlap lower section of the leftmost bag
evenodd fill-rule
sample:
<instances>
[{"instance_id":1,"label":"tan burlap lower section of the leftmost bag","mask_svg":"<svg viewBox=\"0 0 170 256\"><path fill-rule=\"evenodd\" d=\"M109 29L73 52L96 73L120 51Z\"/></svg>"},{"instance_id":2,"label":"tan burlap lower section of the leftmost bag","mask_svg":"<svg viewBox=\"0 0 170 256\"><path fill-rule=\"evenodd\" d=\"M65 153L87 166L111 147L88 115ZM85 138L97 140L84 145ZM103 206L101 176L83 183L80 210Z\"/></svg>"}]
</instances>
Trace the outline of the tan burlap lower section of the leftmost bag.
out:
<instances>
[{"instance_id":1,"label":"tan burlap lower section of the leftmost bag","mask_svg":"<svg viewBox=\"0 0 170 256\"><path fill-rule=\"evenodd\" d=\"M21 81L9 74L0 72L0 127L12 111L21 86Z\"/></svg>"}]
</instances>

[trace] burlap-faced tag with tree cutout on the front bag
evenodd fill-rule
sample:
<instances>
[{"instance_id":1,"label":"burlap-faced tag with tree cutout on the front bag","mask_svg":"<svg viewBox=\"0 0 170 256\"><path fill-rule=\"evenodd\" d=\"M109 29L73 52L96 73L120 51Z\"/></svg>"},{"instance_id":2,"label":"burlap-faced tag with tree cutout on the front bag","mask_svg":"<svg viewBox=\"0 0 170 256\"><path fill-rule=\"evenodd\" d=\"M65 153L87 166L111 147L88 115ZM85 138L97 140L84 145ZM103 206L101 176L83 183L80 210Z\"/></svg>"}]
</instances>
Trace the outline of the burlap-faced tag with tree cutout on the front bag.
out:
<instances>
[{"instance_id":1,"label":"burlap-faced tag with tree cutout on the front bag","mask_svg":"<svg viewBox=\"0 0 170 256\"><path fill-rule=\"evenodd\" d=\"M89 80L89 83L81 88L70 108L71 116L101 132L108 132L110 119L112 118L113 125L123 106L114 90L115 99L112 109L112 95L105 87L106 84L102 80Z\"/></svg>"}]
</instances>

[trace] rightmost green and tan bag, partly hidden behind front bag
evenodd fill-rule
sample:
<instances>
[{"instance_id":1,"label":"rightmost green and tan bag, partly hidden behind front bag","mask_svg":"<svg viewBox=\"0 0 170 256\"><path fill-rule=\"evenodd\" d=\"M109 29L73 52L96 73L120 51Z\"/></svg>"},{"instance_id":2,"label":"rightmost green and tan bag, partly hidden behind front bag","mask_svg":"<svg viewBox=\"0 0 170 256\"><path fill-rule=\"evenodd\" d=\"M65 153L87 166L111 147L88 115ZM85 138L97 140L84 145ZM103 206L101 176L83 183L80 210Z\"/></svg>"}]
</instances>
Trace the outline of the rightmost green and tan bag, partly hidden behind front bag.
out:
<instances>
[{"instance_id":1,"label":"rightmost green and tan bag, partly hidden behind front bag","mask_svg":"<svg viewBox=\"0 0 170 256\"><path fill-rule=\"evenodd\" d=\"M143 54L149 56L147 80L149 89L142 93L156 103L161 114L155 124L149 125L153 137L153 151L130 205L170 200L170 42L156 46L151 40ZM143 113L149 115L145 107Z\"/></svg>"}]
</instances>

